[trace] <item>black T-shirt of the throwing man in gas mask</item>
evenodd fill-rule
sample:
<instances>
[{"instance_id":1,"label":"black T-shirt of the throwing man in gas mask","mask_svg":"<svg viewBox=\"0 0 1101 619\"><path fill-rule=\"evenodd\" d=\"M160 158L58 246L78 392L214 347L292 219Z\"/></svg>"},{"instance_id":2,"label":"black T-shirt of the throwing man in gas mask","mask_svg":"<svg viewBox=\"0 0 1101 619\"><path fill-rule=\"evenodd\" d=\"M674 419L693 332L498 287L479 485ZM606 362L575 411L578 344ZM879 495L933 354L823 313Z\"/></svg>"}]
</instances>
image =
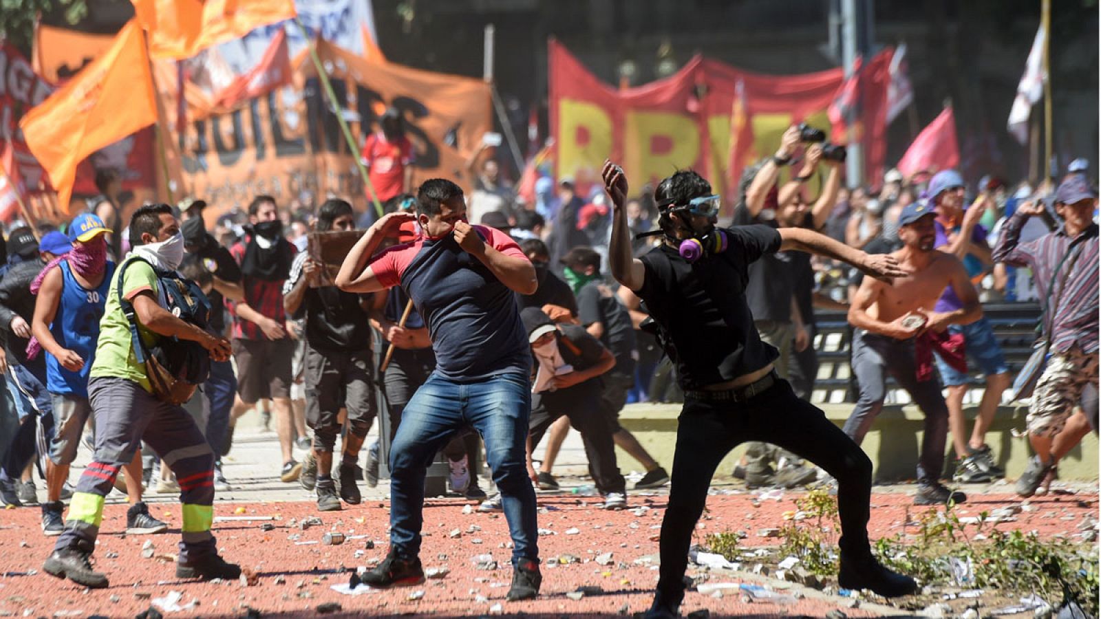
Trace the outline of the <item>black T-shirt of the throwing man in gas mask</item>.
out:
<instances>
[{"instance_id":1,"label":"black T-shirt of the throwing man in gas mask","mask_svg":"<svg viewBox=\"0 0 1101 619\"><path fill-rule=\"evenodd\" d=\"M780 249L780 232L768 226L726 232L729 248L695 263L668 245L641 258L645 281L637 293L662 328L684 389L735 379L780 356L761 341L745 300L750 264Z\"/></svg>"}]
</instances>

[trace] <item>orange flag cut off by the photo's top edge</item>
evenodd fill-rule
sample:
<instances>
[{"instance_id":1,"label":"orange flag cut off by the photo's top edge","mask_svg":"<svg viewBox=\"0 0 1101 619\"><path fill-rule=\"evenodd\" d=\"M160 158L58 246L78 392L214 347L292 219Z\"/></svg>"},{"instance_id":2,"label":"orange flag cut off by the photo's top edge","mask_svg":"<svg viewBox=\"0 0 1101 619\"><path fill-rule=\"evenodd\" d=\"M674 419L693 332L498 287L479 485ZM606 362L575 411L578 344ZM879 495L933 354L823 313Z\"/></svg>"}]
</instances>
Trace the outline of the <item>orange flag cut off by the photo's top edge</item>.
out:
<instances>
[{"instance_id":1,"label":"orange flag cut off by the photo's top edge","mask_svg":"<svg viewBox=\"0 0 1101 619\"><path fill-rule=\"evenodd\" d=\"M244 36L253 29L293 19L294 0L131 0L149 31L154 58L189 58Z\"/></svg>"}]
</instances>

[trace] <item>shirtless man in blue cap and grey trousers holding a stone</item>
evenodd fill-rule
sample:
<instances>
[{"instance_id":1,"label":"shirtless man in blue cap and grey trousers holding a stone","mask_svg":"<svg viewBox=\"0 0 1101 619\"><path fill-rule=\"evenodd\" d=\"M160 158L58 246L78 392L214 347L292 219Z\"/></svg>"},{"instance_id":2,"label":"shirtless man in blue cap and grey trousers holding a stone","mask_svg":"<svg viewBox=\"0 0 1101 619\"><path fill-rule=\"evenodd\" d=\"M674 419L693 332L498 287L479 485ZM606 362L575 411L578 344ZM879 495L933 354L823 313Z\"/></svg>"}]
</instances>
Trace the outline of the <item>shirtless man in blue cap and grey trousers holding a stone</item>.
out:
<instances>
[{"instance_id":1,"label":"shirtless man in blue cap and grey trousers holding a stone","mask_svg":"<svg viewBox=\"0 0 1101 619\"><path fill-rule=\"evenodd\" d=\"M844 424L844 433L858 444L883 410L886 395L884 370L890 371L925 413L925 435L917 464L917 495L914 503L961 503L962 492L940 485L948 437L948 406L931 369L931 352L920 368L915 345L929 345L926 332L942 333L948 325L973 323L982 316L979 296L958 258L934 249L936 211L925 202L906 206L898 216L898 238L904 246L894 256L907 278L884 283L864 278L849 308L852 337L852 371L860 384L860 399ZM940 293L951 284L961 307L934 312ZM930 334L931 335L931 334ZM924 371L923 371L924 370Z\"/></svg>"}]
</instances>

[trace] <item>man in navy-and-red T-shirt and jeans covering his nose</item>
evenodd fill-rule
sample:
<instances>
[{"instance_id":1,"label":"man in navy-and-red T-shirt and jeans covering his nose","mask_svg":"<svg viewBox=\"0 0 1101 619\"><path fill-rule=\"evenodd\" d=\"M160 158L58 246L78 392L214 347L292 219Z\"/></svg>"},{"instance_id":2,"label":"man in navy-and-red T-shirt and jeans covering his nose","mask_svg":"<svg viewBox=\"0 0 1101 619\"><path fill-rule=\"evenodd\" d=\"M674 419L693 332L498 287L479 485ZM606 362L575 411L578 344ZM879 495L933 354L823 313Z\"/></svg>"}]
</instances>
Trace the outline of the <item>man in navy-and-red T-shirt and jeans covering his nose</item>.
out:
<instances>
[{"instance_id":1,"label":"man in navy-and-red T-shirt and jeans covering his nose","mask_svg":"<svg viewBox=\"0 0 1101 619\"><path fill-rule=\"evenodd\" d=\"M371 226L336 281L358 293L402 286L436 354L436 370L406 404L391 446L390 553L362 580L377 587L424 582L417 554L425 471L439 447L472 425L486 442L512 535L508 597L532 598L542 583L535 475L525 461L532 357L513 293L535 292L535 269L506 235L469 225L462 189L444 178L425 181L417 193L421 236L372 258L382 239L413 217L391 213Z\"/></svg>"}]
</instances>

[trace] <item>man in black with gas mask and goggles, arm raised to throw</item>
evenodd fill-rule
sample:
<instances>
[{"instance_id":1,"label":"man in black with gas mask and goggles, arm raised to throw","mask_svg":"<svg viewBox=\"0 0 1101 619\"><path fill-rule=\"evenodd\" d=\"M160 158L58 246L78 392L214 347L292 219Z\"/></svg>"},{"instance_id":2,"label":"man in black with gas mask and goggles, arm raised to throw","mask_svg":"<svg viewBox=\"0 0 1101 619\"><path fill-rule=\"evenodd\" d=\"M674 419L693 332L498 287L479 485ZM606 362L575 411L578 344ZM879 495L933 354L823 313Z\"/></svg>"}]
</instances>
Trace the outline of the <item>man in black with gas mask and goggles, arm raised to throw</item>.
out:
<instances>
[{"instance_id":1,"label":"man in black with gas mask and goggles, arm raised to throw","mask_svg":"<svg viewBox=\"0 0 1101 619\"><path fill-rule=\"evenodd\" d=\"M809 459L838 480L842 536L840 585L884 596L913 593L912 578L872 556L868 519L872 463L814 405L776 377L776 349L753 328L745 300L749 264L766 253L797 249L843 260L875 276L905 273L891 257L868 256L802 228L715 227L718 196L695 172L677 172L657 186L665 242L631 256L622 169L606 162L604 186L615 205L609 261L612 274L646 303L685 389L673 486L662 522L661 575L650 618L675 617L684 598L691 542L719 461L745 441L773 443Z\"/></svg>"}]
</instances>

